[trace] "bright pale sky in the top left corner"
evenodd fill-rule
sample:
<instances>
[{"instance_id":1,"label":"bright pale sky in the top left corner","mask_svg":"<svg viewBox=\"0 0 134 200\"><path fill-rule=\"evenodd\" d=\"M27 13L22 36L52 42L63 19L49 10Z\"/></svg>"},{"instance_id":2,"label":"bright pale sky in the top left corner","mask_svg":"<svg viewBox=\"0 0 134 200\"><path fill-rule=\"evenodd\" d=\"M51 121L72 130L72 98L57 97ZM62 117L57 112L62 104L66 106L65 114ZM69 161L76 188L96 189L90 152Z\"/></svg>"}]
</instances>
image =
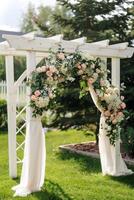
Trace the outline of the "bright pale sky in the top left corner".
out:
<instances>
[{"instance_id":1,"label":"bright pale sky in the top left corner","mask_svg":"<svg viewBox=\"0 0 134 200\"><path fill-rule=\"evenodd\" d=\"M40 4L54 6L56 0L2 0L0 2L0 30L19 31L22 16L29 2L37 8Z\"/></svg>"}]
</instances>

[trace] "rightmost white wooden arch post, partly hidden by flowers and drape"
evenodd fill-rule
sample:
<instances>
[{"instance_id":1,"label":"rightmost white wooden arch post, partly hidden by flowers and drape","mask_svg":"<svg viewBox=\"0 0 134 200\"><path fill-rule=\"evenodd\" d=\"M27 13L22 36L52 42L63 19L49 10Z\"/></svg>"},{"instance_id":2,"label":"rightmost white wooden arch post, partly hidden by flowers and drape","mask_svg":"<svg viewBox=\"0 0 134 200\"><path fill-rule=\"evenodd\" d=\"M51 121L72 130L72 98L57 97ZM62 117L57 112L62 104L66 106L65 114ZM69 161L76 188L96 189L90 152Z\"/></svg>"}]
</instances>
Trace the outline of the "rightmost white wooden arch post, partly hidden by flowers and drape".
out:
<instances>
[{"instance_id":1,"label":"rightmost white wooden arch post, partly hidden by flowers and drape","mask_svg":"<svg viewBox=\"0 0 134 200\"><path fill-rule=\"evenodd\" d=\"M112 58L112 85L120 91L120 58ZM118 171L118 161L120 161L120 135L115 143L115 172Z\"/></svg>"}]
</instances>

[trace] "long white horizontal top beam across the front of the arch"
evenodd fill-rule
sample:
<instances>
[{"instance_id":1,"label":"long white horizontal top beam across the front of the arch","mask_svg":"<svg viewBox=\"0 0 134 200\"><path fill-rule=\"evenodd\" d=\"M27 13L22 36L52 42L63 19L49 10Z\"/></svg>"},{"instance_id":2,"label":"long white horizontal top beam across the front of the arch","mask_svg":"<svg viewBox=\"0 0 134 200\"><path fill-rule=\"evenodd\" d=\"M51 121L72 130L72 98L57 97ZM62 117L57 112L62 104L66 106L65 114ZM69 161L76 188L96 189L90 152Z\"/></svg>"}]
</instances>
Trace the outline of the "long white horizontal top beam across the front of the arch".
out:
<instances>
[{"instance_id":1,"label":"long white horizontal top beam across the front of the arch","mask_svg":"<svg viewBox=\"0 0 134 200\"><path fill-rule=\"evenodd\" d=\"M55 36L56 37L56 36ZM57 41L54 38L35 37L33 40L15 35L3 35L10 46L21 51L48 52L50 48L56 50L58 44L61 44L66 53L73 53L76 49L83 53L89 53L91 56L130 58L134 53L134 48L127 47L127 43L108 45L109 40L95 43L78 43L78 40Z\"/></svg>"}]
</instances>

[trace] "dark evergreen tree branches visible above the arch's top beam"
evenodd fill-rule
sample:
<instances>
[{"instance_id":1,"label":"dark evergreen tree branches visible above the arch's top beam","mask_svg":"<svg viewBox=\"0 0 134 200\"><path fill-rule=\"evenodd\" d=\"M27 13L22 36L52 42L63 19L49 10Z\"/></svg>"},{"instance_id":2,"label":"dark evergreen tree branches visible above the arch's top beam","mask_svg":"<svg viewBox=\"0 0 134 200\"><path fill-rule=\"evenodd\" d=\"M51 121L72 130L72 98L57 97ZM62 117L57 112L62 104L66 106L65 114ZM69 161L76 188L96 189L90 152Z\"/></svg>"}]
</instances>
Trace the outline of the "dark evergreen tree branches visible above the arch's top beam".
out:
<instances>
[{"instance_id":1,"label":"dark evergreen tree branches visible above the arch's top beam","mask_svg":"<svg viewBox=\"0 0 134 200\"><path fill-rule=\"evenodd\" d=\"M55 21L62 27L70 25L77 37L86 36L89 42L105 38L125 41L131 35L133 1L78 0L75 4L67 0L58 0L58 2L68 9L71 17L65 18L57 14L54 16Z\"/></svg>"}]
</instances>

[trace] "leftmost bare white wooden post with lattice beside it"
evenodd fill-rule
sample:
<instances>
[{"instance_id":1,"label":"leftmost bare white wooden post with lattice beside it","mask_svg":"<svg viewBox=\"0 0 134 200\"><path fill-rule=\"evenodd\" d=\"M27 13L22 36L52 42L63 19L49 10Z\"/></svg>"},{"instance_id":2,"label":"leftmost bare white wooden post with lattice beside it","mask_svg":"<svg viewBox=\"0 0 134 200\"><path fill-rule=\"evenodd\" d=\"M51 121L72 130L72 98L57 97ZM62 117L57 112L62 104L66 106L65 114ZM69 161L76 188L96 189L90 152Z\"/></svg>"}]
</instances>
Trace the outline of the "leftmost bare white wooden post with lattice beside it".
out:
<instances>
[{"instance_id":1,"label":"leftmost bare white wooden post with lattice beside it","mask_svg":"<svg viewBox=\"0 0 134 200\"><path fill-rule=\"evenodd\" d=\"M14 89L14 62L13 56L6 56L6 79L7 79L7 109L8 109L8 152L9 152L9 175L17 177L16 157L16 95Z\"/></svg>"}]
</instances>

